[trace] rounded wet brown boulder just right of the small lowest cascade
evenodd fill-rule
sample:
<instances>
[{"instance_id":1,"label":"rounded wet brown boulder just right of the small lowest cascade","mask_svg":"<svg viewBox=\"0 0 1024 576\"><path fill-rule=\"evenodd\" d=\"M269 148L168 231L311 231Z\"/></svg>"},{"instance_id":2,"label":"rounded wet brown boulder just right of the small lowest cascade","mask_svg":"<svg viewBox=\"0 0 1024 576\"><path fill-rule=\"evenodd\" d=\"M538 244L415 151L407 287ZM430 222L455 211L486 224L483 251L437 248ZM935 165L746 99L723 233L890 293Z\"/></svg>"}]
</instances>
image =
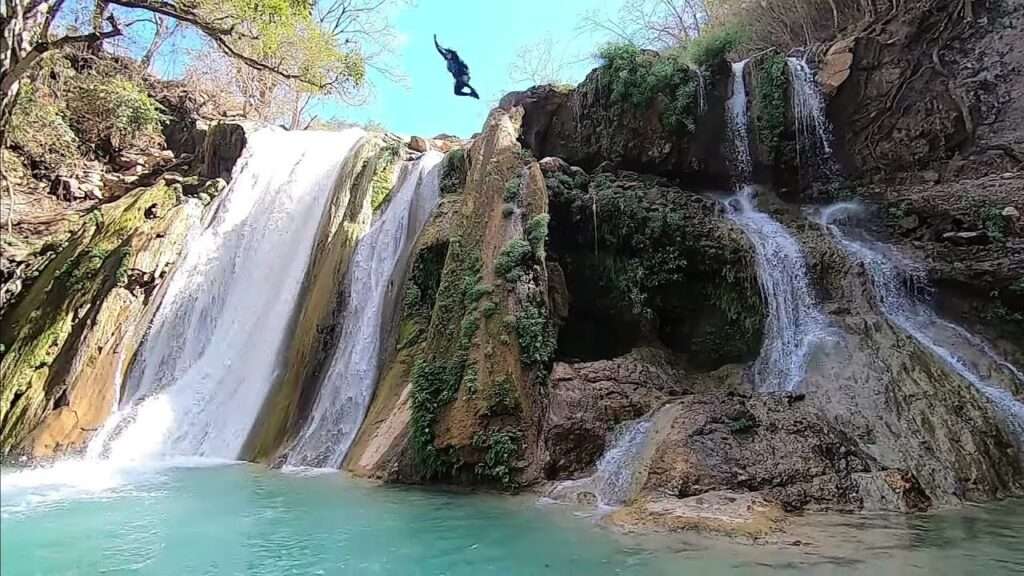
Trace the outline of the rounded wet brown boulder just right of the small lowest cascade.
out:
<instances>
[{"instance_id":1,"label":"rounded wet brown boulder just right of the small lowest cascade","mask_svg":"<svg viewBox=\"0 0 1024 576\"><path fill-rule=\"evenodd\" d=\"M806 402L773 394L684 397L649 464L647 493L758 492L786 510L857 509L852 475L876 465Z\"/></svg>"}]
</instances>

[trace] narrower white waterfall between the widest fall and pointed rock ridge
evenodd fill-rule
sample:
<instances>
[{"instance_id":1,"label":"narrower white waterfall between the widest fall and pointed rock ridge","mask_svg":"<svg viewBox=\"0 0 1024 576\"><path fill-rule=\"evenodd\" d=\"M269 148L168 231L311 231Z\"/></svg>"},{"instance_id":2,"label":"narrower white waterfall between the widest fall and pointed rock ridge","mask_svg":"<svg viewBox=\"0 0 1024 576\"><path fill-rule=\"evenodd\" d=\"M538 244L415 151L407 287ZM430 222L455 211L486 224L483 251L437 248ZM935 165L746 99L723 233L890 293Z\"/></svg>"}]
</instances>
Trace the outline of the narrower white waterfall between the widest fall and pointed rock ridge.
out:
<instances>
[{"instance_id":1,"label":"narrower white waterfall between the widest fall and pointed rock ridge","mask_svg":"<svg viewBox=\"0 0 1024 576\"><path fill-rule=\"evenodd\" d=\"M288 453L289 466L340 467L355 439L377 384L387 296L400 288L393 285L396 268L437 202L441 158L429 152L402 167L384 213L355 247L341 339L310 419Z\"/></svg>"}]
</instances>

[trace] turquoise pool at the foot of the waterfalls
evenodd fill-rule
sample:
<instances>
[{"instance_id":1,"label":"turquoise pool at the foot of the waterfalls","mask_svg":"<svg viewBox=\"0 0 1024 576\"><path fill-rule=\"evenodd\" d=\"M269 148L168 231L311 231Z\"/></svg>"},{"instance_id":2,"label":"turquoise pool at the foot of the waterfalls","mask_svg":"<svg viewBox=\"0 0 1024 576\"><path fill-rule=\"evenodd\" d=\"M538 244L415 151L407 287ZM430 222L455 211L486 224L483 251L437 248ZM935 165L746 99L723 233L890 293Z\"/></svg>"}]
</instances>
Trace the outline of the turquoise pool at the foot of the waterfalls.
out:
<instances>
[{"instance_id":1,"label":"turquoise pool at the foot of the waterfalls","mask_svg":"<svg viewBox=\"0 0 1024 576\"><path fill-rule=\"evenodd\" d=\"M1020 574L1024 503L839 517L800 546L636 539L531 497L236 464L5 470L4 576ZM105 471L103 471L105 470ZM100 474L102 471L102 474Z\"/></svg>"}]
</instances>

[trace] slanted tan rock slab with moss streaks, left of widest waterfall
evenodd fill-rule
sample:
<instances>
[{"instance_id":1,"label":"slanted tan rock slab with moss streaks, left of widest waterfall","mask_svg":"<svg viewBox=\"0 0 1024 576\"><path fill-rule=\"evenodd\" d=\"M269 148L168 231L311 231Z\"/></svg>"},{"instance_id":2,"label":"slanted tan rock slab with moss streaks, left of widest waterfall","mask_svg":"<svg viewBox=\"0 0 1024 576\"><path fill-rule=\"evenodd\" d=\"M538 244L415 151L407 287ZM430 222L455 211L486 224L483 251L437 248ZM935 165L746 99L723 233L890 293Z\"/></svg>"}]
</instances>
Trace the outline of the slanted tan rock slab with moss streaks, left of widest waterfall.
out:
<instances>
[{"instance_id":1,"label":"slanted tan rock slab with moss streaks, left of widest waterfall","mask_svg":"<svg viewBox=\"0 0 1024 576\"><path fill-rule=\"evenodd\" d=\"M93 210L0 321L0 453L48 456L106 416L145 306L199 220L173 188Z\"/></svg>"}]
</instances>

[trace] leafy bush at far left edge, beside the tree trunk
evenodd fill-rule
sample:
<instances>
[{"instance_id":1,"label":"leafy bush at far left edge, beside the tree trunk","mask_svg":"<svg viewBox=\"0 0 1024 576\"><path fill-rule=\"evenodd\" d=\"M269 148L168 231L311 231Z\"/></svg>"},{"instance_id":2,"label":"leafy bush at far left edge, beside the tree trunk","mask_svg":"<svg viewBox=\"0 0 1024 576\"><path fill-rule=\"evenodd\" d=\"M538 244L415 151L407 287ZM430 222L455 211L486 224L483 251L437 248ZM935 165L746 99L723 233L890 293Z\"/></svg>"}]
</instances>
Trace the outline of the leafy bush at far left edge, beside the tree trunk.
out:
<instances>
[{"instance_id":1,"label":"leafy bush at far left edge, beside the tree trunk","mask_svg":"<svg viewBox=\"0 0 1024 576\"><path fill-rule=\"evenodd\" d=\"M68 124L60 99L47 98L32 84L24 86L11 113L10 145L34 167L71 173L80 161L78 136Z\"/></svg>"}]
</instances>

